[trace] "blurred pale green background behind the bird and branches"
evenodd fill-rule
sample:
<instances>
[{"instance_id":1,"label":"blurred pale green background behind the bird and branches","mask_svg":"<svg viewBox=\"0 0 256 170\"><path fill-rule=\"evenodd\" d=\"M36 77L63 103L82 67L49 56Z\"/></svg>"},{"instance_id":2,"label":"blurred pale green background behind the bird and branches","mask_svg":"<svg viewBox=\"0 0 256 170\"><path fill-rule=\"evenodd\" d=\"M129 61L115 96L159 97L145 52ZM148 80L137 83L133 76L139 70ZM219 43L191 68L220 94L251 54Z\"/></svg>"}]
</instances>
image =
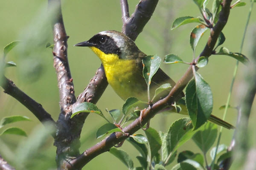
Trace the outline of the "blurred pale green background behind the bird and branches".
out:
<instances>
[{"instance_id":1,"label":"blurred pale green background behind the bird and branches","mask_svg":"<svg viewBox=\"0 0 256 170\"><path fill-rule=\"evenodd\" d=\"M232 52L239 52L247 20L250 1L244 0L244 2L247 3L246 6L234 8L230 11L228 23L223 30L226 41L222 46L227 47ZM132 14L138 0L129 0L128 3L130 14ZM212 1L209 1L209 9L212 8L211 5ZM68 40L68 59L75 86L75 94L78 96L87 86L96 69L99 68L100 60L89 48L78 48L73 47L73 45L88 40L100 31L122 31L121 10L119 0L66 0L62 1L62 13L67 35L70 36ZM160 0L151 20L136 40L140 50L148 55L158 54L162 59L166 54L173 53L180 56L184 61L191 62L193 52L189 45L189 36L190 31L196 24L192 23L176 28L173 31L170 30L173 20L181 16L198 17L200 12L192 0L177 2ZM51 49L45 48L47 42L52 43L50 19L51 17L47 14L47 0L0 0L0 21L2 23L0 26L0 53L3 52L3 47L9 42L14 40L23 41L7 56L6 61L16 62L17 68L7 68L6 77L12 79L21 90L41 103L46 111L52 115L53 119L57 120L60 112L58 83L55 69L53 68ZM242 51L249 58L252 57L251 48L255 48L255 46L252 47L251 45L255 41L251 40L255 24L256 14L253 11ZM199 42L196 56L204 48L208 36L209 31L205 33ZM226 103L235 63L236 60L231 57L212 56L207 67L199 70L199 73L212 88L213 113L219 117L223 116L224 111L218 108ZM188 65L162 64L161 68L172 79L177 81L184 74ZM230 105L237 106L240 103L239 91L241 89L239 89L239 82L243 79L244 68L245 66L240 63ZM3 91L2 88L1 91ZM97 106L102 111L105 111L105 108L109 110L121 108L122 104L123 101L108 86ZM29 139L33 141L35 134L43 133L40 129L44 128L44 126L23 105L3 92L0 93L0 108L0 118L11 115L24 115L32 119L31 122L18 122L12 125L24 129L29 135L28 138L12 135L0 136L0 154L11 164L14 164L17 169L54 169L56 166L56 148L53 146L51 136L44 138L44 141L38 144L38 147L36 147L38 150L32 149L31 154L29 154L29 160L24 161L24 167L17 164L17 160L15 161L15 156L18 154L17 150L29 144L27 142ZM256 120L256 116L253 114L255 111L254 104L250 123ZM104 114L110 118L108 113L104 112ZM236 110L229 109L226 121L235 125L236 116ZM182 116L177 114L157 114L151 120L150 125L157 130L166 132L172 122L180 117ZM104 119L90 113L81 133L81 152L101 140L96 139L96 130L104 123ZM143 131L140 130L138 133L143 133ZM232 136L233 130L224 129L221 144L229 145ZM135 166L139 164L135 159L139 153L131 144L125 142L122 149L132 156ZM193 141L187 142L178 151L182 150L192 150L194 153L200 152ZM110 153L103 153L90 161L84 169L112 170L126 169L126 167Z\"/></svg>"}]
</instances>

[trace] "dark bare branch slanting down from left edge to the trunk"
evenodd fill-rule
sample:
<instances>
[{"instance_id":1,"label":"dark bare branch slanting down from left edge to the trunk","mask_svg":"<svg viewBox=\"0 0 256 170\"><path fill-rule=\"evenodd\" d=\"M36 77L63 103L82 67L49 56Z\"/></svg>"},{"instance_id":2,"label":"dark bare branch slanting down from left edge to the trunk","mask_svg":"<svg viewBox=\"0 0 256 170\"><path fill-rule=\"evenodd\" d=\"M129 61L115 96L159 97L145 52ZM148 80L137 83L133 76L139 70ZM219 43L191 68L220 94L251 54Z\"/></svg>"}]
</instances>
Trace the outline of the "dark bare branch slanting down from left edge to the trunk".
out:
<instances>
[{"instance_id":1,"label":"dark bare branch slanting down from left edge to the trunk","mask_svg":"<svg viewBox=\"0 0 256 170\"><path fill-rule=\"evenodd\" d=\"M42 105L36 102L34 99L29 97L23 91L21 91L17 86L12 82L12 80L3 77L2 88L4 89L4 93L9 94L19 101L22 105L31 111L40 122L51 122L55 125L55 121L52 119L52 116L44 110Z\"/></svg>"}]
</instances>

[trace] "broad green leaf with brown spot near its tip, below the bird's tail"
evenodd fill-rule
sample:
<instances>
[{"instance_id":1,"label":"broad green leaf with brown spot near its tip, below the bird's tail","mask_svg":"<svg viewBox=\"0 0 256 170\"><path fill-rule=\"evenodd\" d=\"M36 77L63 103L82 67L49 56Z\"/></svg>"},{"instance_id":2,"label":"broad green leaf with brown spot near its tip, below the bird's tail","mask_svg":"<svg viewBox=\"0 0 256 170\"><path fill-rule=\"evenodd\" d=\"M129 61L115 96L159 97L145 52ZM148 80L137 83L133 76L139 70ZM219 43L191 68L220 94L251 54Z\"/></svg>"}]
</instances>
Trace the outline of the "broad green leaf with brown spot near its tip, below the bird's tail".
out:
<instances>
[{"instance_id":1,"label":"broad green leaf with brown spot near its tip, below the bird's tail","mask_svg":"<svg viewBox=\"0 0 256 170\"><path fill-rule=\"evenodd\" d=\"M168 157L183 145L196 131L192 131L191 119L184 117L173 122L166 136ZM166 160L164 160L166 162Z\"/></svg>"}]
</instances>

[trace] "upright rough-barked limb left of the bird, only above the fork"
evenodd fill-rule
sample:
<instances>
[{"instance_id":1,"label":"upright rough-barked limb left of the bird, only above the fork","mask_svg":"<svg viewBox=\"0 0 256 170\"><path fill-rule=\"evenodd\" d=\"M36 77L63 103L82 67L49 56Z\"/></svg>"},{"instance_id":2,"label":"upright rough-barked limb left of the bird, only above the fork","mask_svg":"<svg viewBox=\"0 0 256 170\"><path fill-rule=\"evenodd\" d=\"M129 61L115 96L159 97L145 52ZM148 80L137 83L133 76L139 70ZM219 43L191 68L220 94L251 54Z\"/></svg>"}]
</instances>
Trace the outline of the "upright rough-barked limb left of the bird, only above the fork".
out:
<instances>
[{"instance_id":1,"label":"upright rough-barked limb left of the bird, only above the fork","mask_svg":"<svg viewBox=\"0 0 256 170\"><path fill-rule=\"evenodd\" d=\"M70 105L76 102L73 79L67 59L67 39L62 14L61 0L48 0L49 11L54 10L52 20L54 48L52 51L54 68L57 73L62 114L70 113ZM56 7L56 8L55 8Z\"/></svg>"}]
</instances>

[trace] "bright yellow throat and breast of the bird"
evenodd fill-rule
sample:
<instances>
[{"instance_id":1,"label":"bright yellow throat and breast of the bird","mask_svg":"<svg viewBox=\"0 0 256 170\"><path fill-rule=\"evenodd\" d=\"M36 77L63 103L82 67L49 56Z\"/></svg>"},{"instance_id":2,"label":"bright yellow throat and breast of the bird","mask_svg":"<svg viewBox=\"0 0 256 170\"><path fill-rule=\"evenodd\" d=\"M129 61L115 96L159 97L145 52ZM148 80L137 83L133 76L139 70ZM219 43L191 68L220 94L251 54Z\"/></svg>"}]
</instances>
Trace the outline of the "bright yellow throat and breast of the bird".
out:
<instances>
[{"instance_id":1,"label":"bright yellow throat and breast of the bird","mask_svg":"<svg viewBox=\"0 0 256 170\"><path fill-rule=\"evenodd\" d=\"M147 99L144 95L147 86L134 59L120 59L117 54L105 54L98 48L90 48L101 59L108 83L116 94L123 100L131 96Z\"/></svg>"}]
</instances>

